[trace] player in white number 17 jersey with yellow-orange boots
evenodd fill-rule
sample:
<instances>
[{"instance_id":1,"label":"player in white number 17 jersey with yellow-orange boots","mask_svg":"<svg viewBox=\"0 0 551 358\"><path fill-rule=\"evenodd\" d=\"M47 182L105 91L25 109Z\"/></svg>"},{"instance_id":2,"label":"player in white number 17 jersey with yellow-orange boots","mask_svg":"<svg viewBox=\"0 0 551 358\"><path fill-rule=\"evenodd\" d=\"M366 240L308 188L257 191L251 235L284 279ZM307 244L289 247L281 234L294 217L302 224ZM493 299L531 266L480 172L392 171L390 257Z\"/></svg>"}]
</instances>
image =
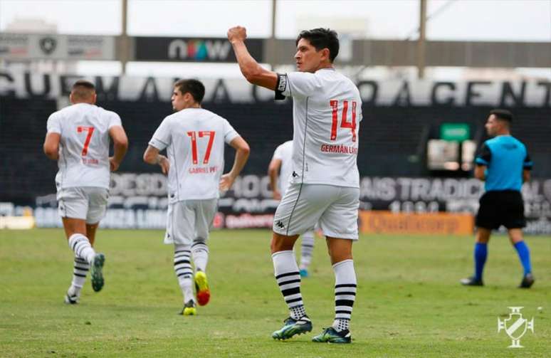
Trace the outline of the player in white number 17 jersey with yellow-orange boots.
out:
<instances>
[{"instance_id":1,"label":"player in white number 17 jersey with yellow-orange boots","mask_svg":"<svg viewBox=\"0 0 551 358\"><path fill-rule=\"evenodd\" d=\"M174 83L172 109L154 132L144 161L168 174L169 207L164 243L174 243L174 272L184 295L182 315L195 315L196 302L210 299L206 280L207 241L219 190L228 190L248 159L249 147L227 120L201 108L205 95L199 80ZM224 143L236 149L231 171L224 171ZM159 151L167 149L167 157ZM195 266L191 268L191 260ZM197 299L192 285L194 275Z\"/></svg>"}]
</instances>

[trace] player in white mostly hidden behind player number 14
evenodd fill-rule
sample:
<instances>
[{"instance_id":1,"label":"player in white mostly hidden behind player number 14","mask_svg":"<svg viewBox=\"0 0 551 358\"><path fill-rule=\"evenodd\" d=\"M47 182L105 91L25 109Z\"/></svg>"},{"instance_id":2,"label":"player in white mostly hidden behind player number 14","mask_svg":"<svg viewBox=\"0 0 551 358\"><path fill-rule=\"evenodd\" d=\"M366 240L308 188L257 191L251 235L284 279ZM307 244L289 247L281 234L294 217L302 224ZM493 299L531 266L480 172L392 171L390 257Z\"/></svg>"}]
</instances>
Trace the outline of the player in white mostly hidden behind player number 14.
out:
<instances>
[{"instance_id":1,"label":"player in white mostly hidden behind player number 14","mask_svg":"<svg viewBox=\"0 0 551 358\"><path fill-rule=\"evenodd\" d=\"M281 200L289 187L289 181L293 173L293 141L280 144L275 148L273 157L268 165L268 176L273 192L273 199ZM279 174L279 175L278 175ZM278 178L279 177L279 178ZM312 262L312 251L314 250L314 231L306 231L301 236L300 245L300 266L298 272L300 277L308 277L308 266Z\"/></svg>"}]
</instances>

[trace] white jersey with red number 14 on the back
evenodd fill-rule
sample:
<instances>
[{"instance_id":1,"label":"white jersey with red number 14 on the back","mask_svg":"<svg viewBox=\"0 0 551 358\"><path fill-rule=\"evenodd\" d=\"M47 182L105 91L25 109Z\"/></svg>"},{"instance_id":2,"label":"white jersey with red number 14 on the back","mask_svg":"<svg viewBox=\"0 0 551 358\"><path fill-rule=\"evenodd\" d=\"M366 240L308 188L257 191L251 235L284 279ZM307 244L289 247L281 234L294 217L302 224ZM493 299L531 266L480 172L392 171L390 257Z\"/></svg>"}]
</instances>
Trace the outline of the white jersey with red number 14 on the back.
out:
<instances>
[{"instance_id":1,"label":"white jersey with red number 14 on the back","mask_svg":"<svg viewBox=\"0 0 551 358\"><path fill-rule=\"evenodd\" d=\"M291 181L360 187L360 91L334 68L283 75L278 90L293 97Z\"/></svg>"}]
</instances>

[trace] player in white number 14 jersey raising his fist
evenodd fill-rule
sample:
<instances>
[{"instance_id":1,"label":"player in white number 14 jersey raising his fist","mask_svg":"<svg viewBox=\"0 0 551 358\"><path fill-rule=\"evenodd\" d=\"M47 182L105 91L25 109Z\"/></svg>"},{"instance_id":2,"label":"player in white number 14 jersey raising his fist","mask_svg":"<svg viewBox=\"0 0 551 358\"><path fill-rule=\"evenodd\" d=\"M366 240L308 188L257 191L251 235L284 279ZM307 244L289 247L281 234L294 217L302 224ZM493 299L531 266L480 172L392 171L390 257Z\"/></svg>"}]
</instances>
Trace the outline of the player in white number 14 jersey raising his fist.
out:
<instances>
[{"instance_id":1,"label":"player in white number 14 jersey raising his fist","mask_svg":"<svg viewBox=\"0 0 551 358\"><path fill-rule=\"evenodd\" d=\"M358 238L356 159L362 100L354 83L333 68L339 52L337 33L325 28L302 31L296 40L298 72L286 74L258 65L247 51L245 28L230 28L228 39L250 83L274 90L275 99L293 97L293 173L275 211L271 241L275 280L290 317L272 337L288 339L312 330L300 294L293 246L300 234L319 222L335 272L335 320L313 341L350 343L356 296L352 241Z\"/></svg>"}]
</instances>

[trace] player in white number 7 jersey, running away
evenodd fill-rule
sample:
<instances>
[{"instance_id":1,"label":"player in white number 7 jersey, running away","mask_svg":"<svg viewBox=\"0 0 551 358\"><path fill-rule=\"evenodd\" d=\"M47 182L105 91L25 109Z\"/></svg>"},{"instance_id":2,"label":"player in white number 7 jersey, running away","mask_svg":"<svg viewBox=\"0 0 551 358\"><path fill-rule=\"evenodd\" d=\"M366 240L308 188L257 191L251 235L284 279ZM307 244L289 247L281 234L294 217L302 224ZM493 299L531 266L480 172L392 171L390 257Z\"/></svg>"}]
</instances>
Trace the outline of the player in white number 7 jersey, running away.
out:
<instances>
[{"instance_id":1,"label":"player in white number 7 jersey, running away","mask_svg":"<svg viewBox=\"0 0 551 358\"><path fill-rule=\"evenodd\" d=\"M110 171L118 169L128 148L119 115L95 105L95 87L78 80L70 93L73 105L48 118L44 153L58 161L56 175L58 212L70 248L75 252L73 282L65 303L78 303L90 270L92 288L103 288L103 253L93 248L95 232L105 215ZM109 157L109 138L114 155Z\"/></svg>"}]
</instances>

